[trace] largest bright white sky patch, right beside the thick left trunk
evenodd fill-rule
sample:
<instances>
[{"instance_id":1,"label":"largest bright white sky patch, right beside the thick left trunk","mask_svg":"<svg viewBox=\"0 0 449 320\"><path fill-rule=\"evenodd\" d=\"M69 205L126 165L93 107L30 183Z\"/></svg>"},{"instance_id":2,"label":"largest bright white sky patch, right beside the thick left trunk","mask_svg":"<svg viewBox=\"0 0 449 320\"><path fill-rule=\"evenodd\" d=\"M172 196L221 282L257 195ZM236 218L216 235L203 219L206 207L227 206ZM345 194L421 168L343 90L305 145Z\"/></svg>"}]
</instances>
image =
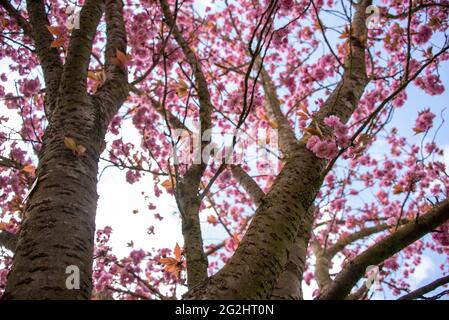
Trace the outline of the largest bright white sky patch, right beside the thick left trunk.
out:
<instances>
[{"instance_id":1,"label":"largest bright white sky patch, right beside the thick left trunk","mask_svg":"<svg viewBox=\"0 0 449 320\"><path fill-rule=\"evenodd\" d=\"M174 248L182 245L181 225L175 212L175 202L170 195L156 198L152 193L153 178L149 175L130 185L125 180L126 171L107 169L98 183L97 229L110 226L113 229L111 245L118 256L129 252L126 244L134 242L135 248L149 250L152 247ZM145 201L141 192L150 198ZM148 202L157 205L156 210L148 209ZM137 213L133 213L137 210ZM162 221L154 218L159 213ZM148 235L150 225L155 226L155 235Z\"/></svg>"}]
</instances>

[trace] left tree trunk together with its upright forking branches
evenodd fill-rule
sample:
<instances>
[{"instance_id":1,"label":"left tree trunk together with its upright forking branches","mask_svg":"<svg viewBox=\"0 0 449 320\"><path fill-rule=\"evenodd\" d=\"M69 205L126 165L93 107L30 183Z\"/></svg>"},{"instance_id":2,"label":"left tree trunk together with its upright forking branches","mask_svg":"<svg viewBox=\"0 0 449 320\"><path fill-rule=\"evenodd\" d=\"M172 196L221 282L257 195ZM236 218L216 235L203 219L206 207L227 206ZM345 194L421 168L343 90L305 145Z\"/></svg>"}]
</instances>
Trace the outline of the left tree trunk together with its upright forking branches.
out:
<instances>
[{"instance_id":1,"label":"left tree trunk together with its upright forking branches","mask_svg":"<svg viewBox=\"0 0 449 320\"><path fill-rule=\"evenodd\" d=\"M127 96L126 72L118 66L108 68L97 96L86 91L93 38L105 4L107 51L126 51L121 1L88 0L62 68L57 50L50 48L44 2L27 1L50 114L37 184L26 204L3 299L91 298L98 160L109 120ZM84 154L76 156L68 149L66 137L82 145ZM74 274L69 266L79 270L79 289L66 286L67 277Z\"/></svg>"}]
</instances>

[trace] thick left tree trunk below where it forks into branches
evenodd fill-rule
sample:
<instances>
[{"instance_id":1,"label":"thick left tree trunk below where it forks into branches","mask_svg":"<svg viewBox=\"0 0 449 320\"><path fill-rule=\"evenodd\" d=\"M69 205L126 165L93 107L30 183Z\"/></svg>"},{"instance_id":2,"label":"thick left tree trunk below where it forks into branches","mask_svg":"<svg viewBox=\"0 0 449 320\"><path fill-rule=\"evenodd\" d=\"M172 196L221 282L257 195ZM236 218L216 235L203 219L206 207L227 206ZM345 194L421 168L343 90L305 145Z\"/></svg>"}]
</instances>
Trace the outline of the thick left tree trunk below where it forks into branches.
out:
<instances>
[{"instance_id":1,"label":"thick left tree trunk below where it forks into branches","mask_svg":"<svg viewBox=\"0 0 449 320\"><path fill-rule=\"evenodd\" d=\"M74 100L54 115L45 132L38 182L26 206L3 299L91 297L96 176L106 129L97 110L92 102ZM85 154L75 156L65 137L83 145ZM79 289L66 286L75 275L69 266L79 270Z\"/></svg>"}]
</instances>

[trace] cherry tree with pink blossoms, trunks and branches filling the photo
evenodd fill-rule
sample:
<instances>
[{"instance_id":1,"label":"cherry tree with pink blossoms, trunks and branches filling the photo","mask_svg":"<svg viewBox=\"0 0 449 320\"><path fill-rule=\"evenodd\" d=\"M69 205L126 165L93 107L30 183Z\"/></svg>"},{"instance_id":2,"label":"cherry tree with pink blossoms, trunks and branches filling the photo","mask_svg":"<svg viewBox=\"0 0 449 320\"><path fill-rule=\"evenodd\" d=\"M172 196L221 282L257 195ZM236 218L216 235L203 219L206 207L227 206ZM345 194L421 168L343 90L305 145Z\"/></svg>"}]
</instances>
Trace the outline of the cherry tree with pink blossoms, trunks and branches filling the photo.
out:
<instances>
[{"instance_id":1,"label":"cherry tree with pink blossoms, trunks and branches filling the photo","mask_svg":"<svg viewBox=\"0 0 449 320\"><path fill-rule=\"evenodd\" d=\"M2 298L447 295L445 106L397 113L445 92L449 1L198 3L0 0ZM99 165L152 177L184 243L117 256Z\"/></svg>"}]
</instances>

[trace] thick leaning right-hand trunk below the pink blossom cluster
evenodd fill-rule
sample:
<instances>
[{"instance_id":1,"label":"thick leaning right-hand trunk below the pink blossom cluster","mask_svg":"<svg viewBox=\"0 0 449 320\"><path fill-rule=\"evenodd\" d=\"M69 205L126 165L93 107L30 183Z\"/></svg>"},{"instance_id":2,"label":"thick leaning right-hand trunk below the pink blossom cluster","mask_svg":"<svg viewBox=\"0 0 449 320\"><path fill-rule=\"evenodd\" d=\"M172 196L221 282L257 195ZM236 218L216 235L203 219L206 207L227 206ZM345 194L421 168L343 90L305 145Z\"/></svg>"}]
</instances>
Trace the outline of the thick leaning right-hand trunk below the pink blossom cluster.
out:
<instances>
[{"instance_id":1,"label":"thick leaning right-hand trunk below the pink blossom cluster","mask_svg":"<svg viewBox=\"0 0 449 320\"><path fill-rule=\"evenodd\" d=\"M231 260L184 298L270 298L300 225L321 185L321 179L316 177L323 168L323 161L305 146L299 146L262 200Z\"/></svg>"}]
</instances>

